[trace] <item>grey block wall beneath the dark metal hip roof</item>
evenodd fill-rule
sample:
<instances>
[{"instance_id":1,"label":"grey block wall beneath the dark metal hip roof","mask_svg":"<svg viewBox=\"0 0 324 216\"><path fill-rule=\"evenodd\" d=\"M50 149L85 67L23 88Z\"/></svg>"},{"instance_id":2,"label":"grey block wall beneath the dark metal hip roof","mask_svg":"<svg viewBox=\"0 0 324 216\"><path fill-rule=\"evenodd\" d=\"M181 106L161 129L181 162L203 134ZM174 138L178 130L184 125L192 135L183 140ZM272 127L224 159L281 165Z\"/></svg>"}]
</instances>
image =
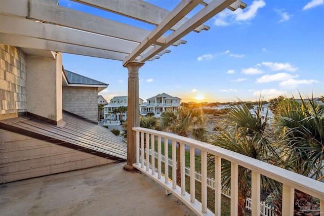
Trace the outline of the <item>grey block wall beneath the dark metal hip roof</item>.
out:
<instances>
[{"instance_id":1,"label":"grey block wall beneath the dark metal hip roof","mask_svg":"<svg viewBox=\"0 0 324 216\"><path fill-rule=\"evenodd\" d=\"M63 110L97 122L98 88L63 87Z\"/></svg>"}]
</instances>

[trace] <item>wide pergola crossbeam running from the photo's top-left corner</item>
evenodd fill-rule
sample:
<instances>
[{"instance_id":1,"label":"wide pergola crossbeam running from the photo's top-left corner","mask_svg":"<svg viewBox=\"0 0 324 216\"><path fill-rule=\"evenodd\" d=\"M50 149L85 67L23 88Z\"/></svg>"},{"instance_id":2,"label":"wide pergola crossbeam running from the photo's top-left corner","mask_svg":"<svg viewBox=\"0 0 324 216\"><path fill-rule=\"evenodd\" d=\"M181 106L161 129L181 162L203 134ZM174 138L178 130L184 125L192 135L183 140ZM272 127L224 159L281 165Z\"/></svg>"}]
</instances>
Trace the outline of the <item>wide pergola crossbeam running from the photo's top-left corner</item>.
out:
<instances>
[{"instance_id":1,"label":"wide pergola crossbeam running from the photo's top-left corner","mask_svg":"<svg viewBox=\"0 0 324 216\"><path fill-rule=\"evenodd\" d=\"M34 19L82 31L141 42L149 30L112 21L84 12L68 9L39 0L1 0L0 13ZM156 39L155 45L165 44L166 36ZM180 41L181 43L183 41ZM177 44L176 44L177 45Z\"/></svg>"}]
</instances>

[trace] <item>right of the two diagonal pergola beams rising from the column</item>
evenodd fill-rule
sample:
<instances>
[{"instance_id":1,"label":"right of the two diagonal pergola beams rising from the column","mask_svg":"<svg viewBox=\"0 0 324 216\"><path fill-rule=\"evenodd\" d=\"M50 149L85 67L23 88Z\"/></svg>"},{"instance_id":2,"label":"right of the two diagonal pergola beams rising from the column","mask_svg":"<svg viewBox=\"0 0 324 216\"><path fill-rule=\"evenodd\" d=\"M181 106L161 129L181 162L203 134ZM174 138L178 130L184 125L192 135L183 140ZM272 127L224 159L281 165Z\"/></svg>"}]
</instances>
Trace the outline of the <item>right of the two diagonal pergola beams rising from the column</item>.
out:
<instances>
[{"instance_id":1,"label":"right of the two diagonal pergola beams rising from the column","mask_svg":"<svg viewBox=\"0 0 324 216\"><path fill-rule=\"evenodd\" d=\"M184 35L188 34L192 29L196 28L196 26L201 25L201 23L206 22L216 14L223 11L228 5L233 5L235 0L214 0L210 4L208 4L204 9L199 11L196 15L194 15L188 22L184 25L180 26L176 31L170 34L167 37L166 44L161 47L156 47L151 49L149 52L144 54L141 58L138 59L139 62L145 62L148 59L151 59L157 53L161 52L161 50L165 49L166 47L170 46L174 41L178 40L178 38L183 37ZM237 7L239 4L236 5Z\"/></svg>"}]
</instances>

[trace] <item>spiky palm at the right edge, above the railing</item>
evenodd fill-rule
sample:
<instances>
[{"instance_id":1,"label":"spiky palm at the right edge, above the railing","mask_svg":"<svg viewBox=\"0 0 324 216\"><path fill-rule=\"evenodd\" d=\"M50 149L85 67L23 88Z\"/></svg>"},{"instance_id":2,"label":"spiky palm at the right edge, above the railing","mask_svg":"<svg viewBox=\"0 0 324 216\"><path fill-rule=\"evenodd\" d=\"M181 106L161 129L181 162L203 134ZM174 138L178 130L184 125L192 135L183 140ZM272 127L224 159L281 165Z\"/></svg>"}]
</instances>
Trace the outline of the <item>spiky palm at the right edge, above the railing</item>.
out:
<instances>
[{"instance_id":1,"label":"spiky palm at the right edge, above the railing","mask_svg":"<svg viewBox=\"0 0 324 216\"><path fill-rule=\"evenodd\" d=\"M281 142L282 166L320 181L324 160L324 106L313 99L295 99L278 104L275 117ZM285 161L284 161L285 159Z\"/></svg>"}]
</instances>

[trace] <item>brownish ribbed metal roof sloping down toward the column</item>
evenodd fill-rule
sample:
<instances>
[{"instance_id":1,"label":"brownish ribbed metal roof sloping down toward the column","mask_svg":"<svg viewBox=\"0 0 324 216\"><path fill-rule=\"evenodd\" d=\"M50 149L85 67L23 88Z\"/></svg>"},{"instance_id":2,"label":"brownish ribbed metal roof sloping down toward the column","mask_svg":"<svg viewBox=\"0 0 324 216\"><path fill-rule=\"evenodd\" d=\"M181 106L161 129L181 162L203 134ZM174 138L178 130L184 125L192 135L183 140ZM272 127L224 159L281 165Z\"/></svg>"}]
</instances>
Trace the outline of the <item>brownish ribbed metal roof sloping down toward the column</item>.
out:
<instances>
[{"instance_id":1,"label":"brownish ribbed metal roof sloping down toward the column","mask_svg":"<svg viewBox=\"0 0 324 216\"><path fill-rule=\"evenodd\" d=\"M65 111L59 125L27 115L1 120L0 128L111 160L127 158L127 144L107 128Z\"/></svg>"}]
</instances>

